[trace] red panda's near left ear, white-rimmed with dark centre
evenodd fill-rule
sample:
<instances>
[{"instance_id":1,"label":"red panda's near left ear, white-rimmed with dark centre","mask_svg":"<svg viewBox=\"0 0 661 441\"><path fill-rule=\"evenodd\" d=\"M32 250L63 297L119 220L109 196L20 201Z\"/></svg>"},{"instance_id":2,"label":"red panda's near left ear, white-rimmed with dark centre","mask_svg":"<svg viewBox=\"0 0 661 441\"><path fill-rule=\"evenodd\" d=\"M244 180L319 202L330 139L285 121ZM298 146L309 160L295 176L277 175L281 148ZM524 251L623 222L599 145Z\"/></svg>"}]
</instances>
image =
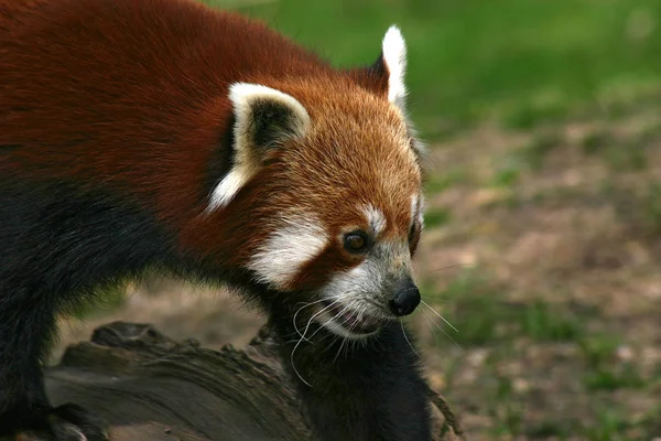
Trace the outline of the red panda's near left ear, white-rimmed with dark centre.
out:
<instances>
[{"instance_id":1,"label":"red panda's near left ear, white-rimmed with dark centre","mask_svg":"<svg viewBox=\"0 0 661 441\"><path fill-rule=\"evenodd\" d=\"M270 149L305 136L307 110L291 95L258 84L229 87L234 110L232 166L212 193L208 211L226 206L257 173Z\"/></svg>"}]
</instances>

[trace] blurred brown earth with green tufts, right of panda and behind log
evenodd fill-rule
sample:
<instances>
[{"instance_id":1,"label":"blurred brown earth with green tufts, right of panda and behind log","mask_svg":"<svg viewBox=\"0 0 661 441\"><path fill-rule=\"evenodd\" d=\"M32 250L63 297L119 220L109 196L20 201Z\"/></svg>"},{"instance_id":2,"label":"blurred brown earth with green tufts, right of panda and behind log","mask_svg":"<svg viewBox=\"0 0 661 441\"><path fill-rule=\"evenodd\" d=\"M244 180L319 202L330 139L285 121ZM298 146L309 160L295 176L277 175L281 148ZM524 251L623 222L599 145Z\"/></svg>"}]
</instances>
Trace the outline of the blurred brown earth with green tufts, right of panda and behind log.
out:
<instances>
[{"instance_id":1,"label":"blurred brown earth with green tufts, right of panda and behind log","mask_svg":"<svg viewBox=\"0 0 661 441\"><path fill-rule=\"evenodd\" d=\"M485 127L431 151L419 280L458 333L429 310L412 322L468 439L661 437L658 112ZM263 321L225 293L163 282L63 322L63 344L118 319L216 348Z\"/></svg>"}]
</instances>

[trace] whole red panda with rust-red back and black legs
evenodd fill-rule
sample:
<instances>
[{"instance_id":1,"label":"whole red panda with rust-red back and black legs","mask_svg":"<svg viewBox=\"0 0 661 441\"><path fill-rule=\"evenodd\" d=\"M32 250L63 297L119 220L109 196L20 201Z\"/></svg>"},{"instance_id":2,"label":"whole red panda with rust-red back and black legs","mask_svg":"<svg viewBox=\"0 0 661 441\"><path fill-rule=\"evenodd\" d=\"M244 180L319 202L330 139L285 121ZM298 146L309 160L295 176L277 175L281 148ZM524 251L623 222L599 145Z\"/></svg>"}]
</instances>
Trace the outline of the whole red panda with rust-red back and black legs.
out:
<instances>
[{"instance_id":1,"label":"whole red panda with rust-red back and black legs","mask_svg":"<svg viewBox=\"0 0 661 441\"><path fill-rule=\"evenodd\" d=\"M429 439L404 69L395 26L338 69L189 0L0 0L0 433L106 439L40 363L57 313L156 269L259 303L322 439Z\"/></svg>"}]
</instances>

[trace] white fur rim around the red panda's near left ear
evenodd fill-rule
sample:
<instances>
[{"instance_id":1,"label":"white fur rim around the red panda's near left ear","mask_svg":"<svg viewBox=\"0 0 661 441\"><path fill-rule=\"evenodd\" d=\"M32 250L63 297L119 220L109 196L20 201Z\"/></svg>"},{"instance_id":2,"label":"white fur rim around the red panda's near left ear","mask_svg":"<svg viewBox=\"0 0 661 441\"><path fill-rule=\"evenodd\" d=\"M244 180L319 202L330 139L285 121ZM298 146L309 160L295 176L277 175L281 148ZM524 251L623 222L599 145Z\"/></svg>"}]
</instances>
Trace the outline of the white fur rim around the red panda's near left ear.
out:
<instances>
[{"instance_id":1,"label":"white fur rim around the red panda's near left ear","mask_svg":"<svg viewBox=\"0 0 661 441\"><path fill-rule=\"evenodd\" d=\"M259 121L256 121L256 114L260 114L260 106L268 105L271 109L286 114L283 117L286 127L280 125L280 131L275 133L280 138L302 137L310 126L307 110L296 98L267 86L235 83L229 87L229 99L236 121L232 168L213 190L207 212L229 204L259 169L260 146L256 142Z\"/></svg>"}]
</instances>

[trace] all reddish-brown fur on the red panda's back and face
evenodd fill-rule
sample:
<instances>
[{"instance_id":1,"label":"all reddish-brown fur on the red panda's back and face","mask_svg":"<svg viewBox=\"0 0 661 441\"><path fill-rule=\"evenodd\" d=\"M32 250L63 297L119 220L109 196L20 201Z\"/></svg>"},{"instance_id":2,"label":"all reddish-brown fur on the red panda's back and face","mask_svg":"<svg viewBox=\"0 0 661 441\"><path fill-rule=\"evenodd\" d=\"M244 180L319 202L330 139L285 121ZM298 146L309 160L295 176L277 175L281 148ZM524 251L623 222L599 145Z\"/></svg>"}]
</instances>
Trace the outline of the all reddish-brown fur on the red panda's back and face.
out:
<instances>
[{"instance_id":1,"label":"all reddish-brown fur on the red panda's back and face","mask_svg":"<svg viewBox=\"0 0 661 441\"><path fill-rule=\"evenodd\" d=\"M384 68L335 71L260 23L186 0L0 0L0 144L25 147L0 171L111 189L152 211L182 250L237 267L283 208L314 213L337 237L365 227L358 204L375 201L383 238L408 236L421 176ZM208 215L205 178L235 82L294 96L313 125ZM297 288L358 262L335 241Z\"/></svg>"}]
</instances>

